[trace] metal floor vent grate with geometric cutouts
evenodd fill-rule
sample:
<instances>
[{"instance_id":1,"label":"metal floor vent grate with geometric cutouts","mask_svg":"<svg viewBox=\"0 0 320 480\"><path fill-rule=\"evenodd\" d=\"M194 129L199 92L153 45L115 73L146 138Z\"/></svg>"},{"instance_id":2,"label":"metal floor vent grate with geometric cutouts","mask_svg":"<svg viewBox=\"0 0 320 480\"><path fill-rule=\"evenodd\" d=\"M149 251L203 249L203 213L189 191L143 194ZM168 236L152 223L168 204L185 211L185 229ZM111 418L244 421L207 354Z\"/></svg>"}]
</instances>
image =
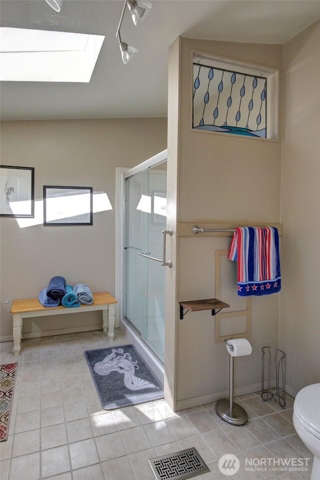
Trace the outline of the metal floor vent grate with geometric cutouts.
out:
<instances>
[{"instance_id":1,"label":"metal floor vent grate with geometric cutouts","mask_svg":"<svg viewBox=\"0 0 320 480\"><path fill-rule=\"evenodd\" d=\"M184 480L210 471L194 447L149 460L157 480Z\"/></svg>"}]
</instances>

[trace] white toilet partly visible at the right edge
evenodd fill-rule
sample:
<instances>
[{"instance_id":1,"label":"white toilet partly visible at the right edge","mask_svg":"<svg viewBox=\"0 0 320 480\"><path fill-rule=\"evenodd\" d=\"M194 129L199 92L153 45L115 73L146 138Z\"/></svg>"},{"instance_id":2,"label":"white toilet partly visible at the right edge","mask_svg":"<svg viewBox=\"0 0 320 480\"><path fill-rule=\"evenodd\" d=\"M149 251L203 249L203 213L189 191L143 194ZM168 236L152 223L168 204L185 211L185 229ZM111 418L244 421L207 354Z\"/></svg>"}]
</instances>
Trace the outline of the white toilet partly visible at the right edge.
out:
<instances>
[{"instance_id":1,"label":"white toilet partly visible at the right edge","mask_svg":"<svg viewBox=\"0 0 320 480\"><path fill-rule=\"evenodd\" d=\"M320 479L320 383L305 386L293 404L293 425L305 446L313 453L310 480Z\"/></svg>"}]
</instances>

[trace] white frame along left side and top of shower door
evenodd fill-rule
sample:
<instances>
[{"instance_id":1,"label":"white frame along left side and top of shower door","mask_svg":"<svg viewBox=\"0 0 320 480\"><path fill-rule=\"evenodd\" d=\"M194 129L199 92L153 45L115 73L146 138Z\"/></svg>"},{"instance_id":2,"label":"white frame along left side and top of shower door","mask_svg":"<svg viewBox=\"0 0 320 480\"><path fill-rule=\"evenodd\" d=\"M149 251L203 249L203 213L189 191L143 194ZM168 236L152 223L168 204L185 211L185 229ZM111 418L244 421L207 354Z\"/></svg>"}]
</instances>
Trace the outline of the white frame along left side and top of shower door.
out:
<instances>
[{"instance_id":1,"label":"white frame along left side and top of shower door","mask_svg":"<svg viewBox=\"0 0 320 480\"><path fill-rule=\"evenodd\" d=\"M116 168L115 188L115 297L119 300L116 304L115 326L120 326L120 320L126 321L124 317L124 240L125 240L125 212L124 212L124 183L125 179L151 168L167 159L167 149L157 153L147 160L139 163L133 168ZM147 344L147 343L146 343Z\"/></svg>"}]
</instances>

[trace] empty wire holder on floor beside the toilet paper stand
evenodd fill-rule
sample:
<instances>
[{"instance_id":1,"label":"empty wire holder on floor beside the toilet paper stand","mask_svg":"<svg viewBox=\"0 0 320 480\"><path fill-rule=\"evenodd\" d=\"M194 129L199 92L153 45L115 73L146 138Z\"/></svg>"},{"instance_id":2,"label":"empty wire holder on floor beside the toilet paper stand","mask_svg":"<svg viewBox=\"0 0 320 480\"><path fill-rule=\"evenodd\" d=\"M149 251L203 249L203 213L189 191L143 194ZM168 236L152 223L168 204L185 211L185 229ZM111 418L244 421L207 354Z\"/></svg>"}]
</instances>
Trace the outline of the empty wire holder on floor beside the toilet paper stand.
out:
<instances>
[{"instance_id":1,"label":"empty wire holder on floor beside the toilet paper stand","mask_svg":"<svg viewBox=\"0 0 320 480\"><path fill-rule=\"evenodd\" d=\"M273 400L279 402L279 405L285 407L285 353L279 348L273 346L263 346L261 348L261 398L262 401ZM272 358L273 357L273 358ZM275 395L271 390L271 369L274 361L275 373ZM265 378L265 370L267 371L267 379ZM273 373L273 375L274 375ZM267 387L264 388L264 382L267 381ZM280 385L281 381L281 385ZM280 390L281 386L281 390ZM281 391L281 392L280 392Z\"/></svg>"}]
</instances>

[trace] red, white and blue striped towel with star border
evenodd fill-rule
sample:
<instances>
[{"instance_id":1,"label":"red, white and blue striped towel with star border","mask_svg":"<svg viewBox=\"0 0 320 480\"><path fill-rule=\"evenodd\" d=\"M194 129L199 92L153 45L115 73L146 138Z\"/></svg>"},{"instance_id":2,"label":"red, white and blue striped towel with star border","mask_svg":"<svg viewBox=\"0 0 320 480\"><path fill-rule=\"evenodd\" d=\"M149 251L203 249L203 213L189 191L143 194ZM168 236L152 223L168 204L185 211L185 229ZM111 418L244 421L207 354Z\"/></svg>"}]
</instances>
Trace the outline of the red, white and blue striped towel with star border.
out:
<instances>
[{"instance_id":1,"label":"red, white and blue striped towel with star border","mask_svg":"<svg viewBox=\"0 0 320 480\"><path fill-rule=\"evenodd\" d=\"M279 235L274 226L236 227L228 258L237 262L238 295L280 291Z\"/></svg>"}]
</instances>

